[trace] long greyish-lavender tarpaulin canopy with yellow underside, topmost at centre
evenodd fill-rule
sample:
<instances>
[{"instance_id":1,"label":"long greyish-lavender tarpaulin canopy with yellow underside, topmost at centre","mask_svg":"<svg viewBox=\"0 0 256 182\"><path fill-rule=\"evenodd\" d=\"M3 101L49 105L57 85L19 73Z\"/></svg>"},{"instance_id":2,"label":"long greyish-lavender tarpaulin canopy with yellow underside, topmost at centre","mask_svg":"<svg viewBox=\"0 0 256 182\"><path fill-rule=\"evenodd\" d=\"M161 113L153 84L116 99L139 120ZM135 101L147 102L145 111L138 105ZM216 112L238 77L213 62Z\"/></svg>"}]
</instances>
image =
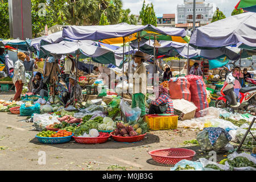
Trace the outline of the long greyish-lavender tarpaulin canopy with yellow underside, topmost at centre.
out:
<instances>
[{"instance_id":1,"label":"long greyish-lavender tarpaulin canopy with yellow underside, topmost at centre","mask_svg":"<svg viewBox=\"0 0 256 182\"><path fill-rule=\"evenodd\" d=\"M167 36L180 36L185 37L186 32L184 28L156 28L151 24L146 26L136 26L133 24L119 23L106 26L67 26L63 28L63 38L70 38L74 40L105 40L118 38L119 41L114 43L123 42L123 38L128 37L125 41L134 40L135 34L140 31L154 32L159 35ZM109 43L110 42L105 42Z\"/></svg>"}]
</instances>

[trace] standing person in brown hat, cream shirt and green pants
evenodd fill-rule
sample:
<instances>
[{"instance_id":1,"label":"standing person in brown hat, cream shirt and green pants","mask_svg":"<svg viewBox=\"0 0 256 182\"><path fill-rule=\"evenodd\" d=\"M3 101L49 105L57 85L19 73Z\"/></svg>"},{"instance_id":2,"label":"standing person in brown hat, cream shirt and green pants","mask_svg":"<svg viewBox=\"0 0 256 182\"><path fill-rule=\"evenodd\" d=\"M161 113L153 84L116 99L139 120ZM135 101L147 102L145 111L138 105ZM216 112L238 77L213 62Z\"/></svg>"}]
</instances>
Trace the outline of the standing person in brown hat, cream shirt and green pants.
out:
<instances>
[{"instance_id":1,"label":"standing person in brown hat, cream shirt and green pants","mask_svg":"<svg viewBox=\"0 0 256 182\"><path fill-rule=\"evenodd\" d=\"M134 55L134 62L137 64L137 68L133 75L133 98L131 108L141 108L141 117L146 121L145 102L147 93L147 75L146 68L143 64L144 61L144 53L137 51Z\"/></svg>"}]
</instances>

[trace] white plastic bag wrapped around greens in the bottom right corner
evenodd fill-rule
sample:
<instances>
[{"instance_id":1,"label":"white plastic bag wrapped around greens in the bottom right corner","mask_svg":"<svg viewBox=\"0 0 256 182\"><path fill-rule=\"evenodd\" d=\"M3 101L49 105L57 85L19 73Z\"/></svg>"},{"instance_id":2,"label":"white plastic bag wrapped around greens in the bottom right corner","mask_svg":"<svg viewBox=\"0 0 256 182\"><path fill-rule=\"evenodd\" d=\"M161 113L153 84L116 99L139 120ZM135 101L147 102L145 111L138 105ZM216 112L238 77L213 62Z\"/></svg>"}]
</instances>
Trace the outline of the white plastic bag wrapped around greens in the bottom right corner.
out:
<instances>
[{"instance_id":1,"label":"white plastic bag wrapped around greens in the bottom right corner","mask_svg":"<svg viewBox=\"0 0 256 182\"><path fill-rule=\"evenodd\" d=\"M243 152L241 154L238 154L237 152L233 152L233 154L228 155L229 160L233 160L236 157L247 158L248 160L250 160L251 162L256 164L256 158L254 156L251 156L250 154L246 154L245 152ZM225 166L230 168L228 161L225 162ZM250 166L248 166L248 167L234 167L233 170L234 171L256 171L256 168L250 167Z\"/></svg>"}]
</instances>

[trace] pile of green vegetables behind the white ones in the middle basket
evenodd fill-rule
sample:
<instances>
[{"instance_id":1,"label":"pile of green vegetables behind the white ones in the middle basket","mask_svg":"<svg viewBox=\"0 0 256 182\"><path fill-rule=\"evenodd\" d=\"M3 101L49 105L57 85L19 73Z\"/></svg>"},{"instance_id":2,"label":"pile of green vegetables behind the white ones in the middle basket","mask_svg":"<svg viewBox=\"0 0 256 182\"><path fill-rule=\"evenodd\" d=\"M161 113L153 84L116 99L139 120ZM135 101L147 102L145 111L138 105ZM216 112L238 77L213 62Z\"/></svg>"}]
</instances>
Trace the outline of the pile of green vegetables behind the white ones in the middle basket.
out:
<instances>
[{"instance_id":1,"label":"pile of green vegetables behind the white ones in the middle basket","mask_svg":"<svg viewBox=\"0 0 256 182\"><path fill-rule=\"evenodd\" d=\"M103 117L96 117L93 120L83 122L75 131L75 137L81 136L84 133L88 134L90 129L98 129L98 125L103 123Z\"/></svg>"}]
</instances>

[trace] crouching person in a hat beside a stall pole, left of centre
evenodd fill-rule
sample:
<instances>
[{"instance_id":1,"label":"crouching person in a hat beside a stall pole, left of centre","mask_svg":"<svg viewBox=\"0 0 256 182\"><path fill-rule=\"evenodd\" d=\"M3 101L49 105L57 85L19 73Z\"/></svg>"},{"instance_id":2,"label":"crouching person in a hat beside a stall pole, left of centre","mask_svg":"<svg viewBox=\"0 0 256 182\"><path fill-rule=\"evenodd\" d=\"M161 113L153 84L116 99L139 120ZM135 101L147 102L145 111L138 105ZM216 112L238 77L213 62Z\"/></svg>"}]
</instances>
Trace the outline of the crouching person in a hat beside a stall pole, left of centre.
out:
<instances>
[{"instance_id":1,"label":"crouching person in a hat beside a stall pole, left of centre","mask_svg":"<svg viewBox=\"0 0 256 182\"><path fill-rule=\"evenodd\" d=\"M69 75L68 80L70 84L70 91L69 91L69 101L67 103L72 103L74 101L75 92L76 92L77 102L82 102L82 89L81 89L81 86L76 82L76 76ZM75 83L76 83L76 90L75 90Z\"/></svg>"}]
</instances>

